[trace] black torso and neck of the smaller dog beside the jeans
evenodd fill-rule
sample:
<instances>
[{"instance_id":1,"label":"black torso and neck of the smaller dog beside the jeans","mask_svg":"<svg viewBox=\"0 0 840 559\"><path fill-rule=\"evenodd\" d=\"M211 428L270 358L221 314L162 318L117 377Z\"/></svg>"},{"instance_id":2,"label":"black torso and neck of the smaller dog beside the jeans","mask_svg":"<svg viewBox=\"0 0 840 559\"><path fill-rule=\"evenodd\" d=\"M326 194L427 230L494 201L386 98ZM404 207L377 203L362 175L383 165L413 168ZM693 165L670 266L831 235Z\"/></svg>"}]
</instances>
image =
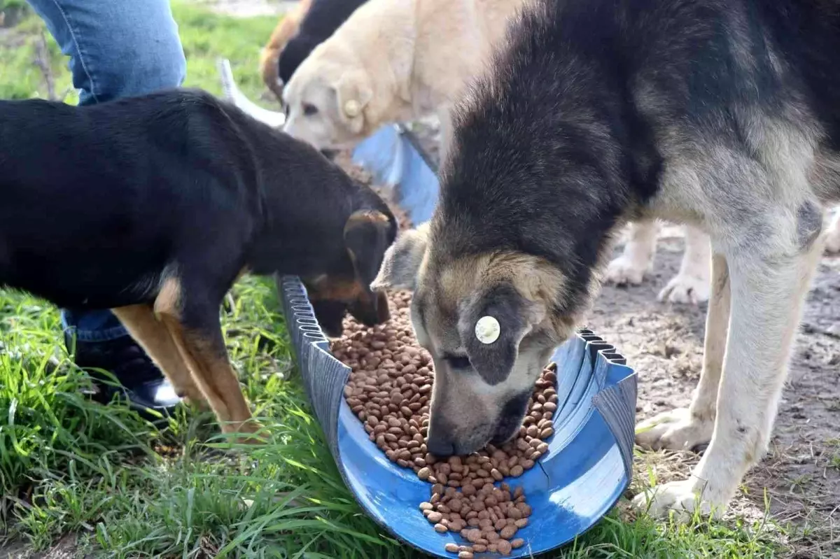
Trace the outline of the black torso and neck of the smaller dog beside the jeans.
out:
<instances>
[{"instance_id":1,"label":"black torso and neck of the smaller dog beside the jeans","mask_svg":"<svg viewBox=\"0 0 840 559\"><path fill-rule=\"evenodd\" d=\"M318 215L322 227L332 218L329 243L341 243L354 204L376 200L360 201L364 189L333 167L202 91L92 107L0 102L0 285L59 306L151 300L167 265L205 248L216 261L201 265L235 275L269 212ZM319 189L304 211L301 197ZM276 233L278 244L300 234Z\"/></svg>"}]
</instances>

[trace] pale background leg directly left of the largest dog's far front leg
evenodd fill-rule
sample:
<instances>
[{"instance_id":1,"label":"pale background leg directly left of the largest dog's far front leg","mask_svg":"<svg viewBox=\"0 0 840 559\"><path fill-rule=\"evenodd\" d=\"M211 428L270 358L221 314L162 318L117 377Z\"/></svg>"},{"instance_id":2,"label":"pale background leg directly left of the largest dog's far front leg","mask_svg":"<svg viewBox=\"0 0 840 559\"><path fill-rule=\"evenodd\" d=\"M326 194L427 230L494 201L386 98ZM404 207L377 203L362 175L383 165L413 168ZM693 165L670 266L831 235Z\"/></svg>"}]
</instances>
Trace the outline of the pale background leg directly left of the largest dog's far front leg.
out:
<instances>
[{"instance_id":1,"label":"pale background leg directly left of the largest dog's far front leg","mask_svg":"<svg viewBox=\"0 0 840 559\"><path fill-rule=\"evenodd\" d=\"M696 227L685 226L685 253L680 271L659 291L658 299L697 305L709 300L709 237Z\"/></svg>"}]
</instances>

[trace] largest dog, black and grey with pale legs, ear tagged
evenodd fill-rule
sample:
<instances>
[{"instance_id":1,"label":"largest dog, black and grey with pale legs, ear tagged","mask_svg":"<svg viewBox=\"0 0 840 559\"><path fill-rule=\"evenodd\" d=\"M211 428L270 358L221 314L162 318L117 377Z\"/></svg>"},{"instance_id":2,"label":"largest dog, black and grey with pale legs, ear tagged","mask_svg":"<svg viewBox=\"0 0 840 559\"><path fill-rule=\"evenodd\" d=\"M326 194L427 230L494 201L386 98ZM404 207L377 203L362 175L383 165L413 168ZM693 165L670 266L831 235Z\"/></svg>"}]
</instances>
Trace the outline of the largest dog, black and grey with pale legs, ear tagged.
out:
<instances>
[{"instance_id":1,"label":"largest dog, black and grey with pale legs, ear tagged","mask_svg":"<svg viewBox=\"0 0 840 559\"><path fill-rule=\"evenodd\" d=\"M710 442L649 505L722 513L767 446L824 209L840 201L838 14L837 0L528 9L455 113L430 224L397 239L373 285L414 290L435 363L430 452L514 432L620 227L690 223L713 254L701 381L638 441ZM501 323L489 345L474 334L484 315Z\"/></svg>"}]
</instances>

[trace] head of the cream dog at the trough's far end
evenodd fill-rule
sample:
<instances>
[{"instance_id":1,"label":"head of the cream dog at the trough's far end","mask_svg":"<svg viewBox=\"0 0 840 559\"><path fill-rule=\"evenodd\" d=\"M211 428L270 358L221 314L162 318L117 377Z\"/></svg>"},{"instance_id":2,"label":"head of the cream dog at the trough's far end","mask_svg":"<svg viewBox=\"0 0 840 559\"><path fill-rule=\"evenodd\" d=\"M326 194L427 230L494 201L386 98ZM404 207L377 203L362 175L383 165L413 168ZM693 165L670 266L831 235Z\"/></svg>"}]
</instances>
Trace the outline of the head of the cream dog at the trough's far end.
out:
<instances>
[{"instance_id":1,"label":"head of the cream dog at the trough's far end","mask_svg":"<svg viewBox=\"0 0 840 559\"><path fill-rule=\"evenodd\" d=\"M283 89L283 131L317 149L344 149L367 135L365 107L373 97L370 76L329 41L319 44Z\"/></svg>"}]
</instances>

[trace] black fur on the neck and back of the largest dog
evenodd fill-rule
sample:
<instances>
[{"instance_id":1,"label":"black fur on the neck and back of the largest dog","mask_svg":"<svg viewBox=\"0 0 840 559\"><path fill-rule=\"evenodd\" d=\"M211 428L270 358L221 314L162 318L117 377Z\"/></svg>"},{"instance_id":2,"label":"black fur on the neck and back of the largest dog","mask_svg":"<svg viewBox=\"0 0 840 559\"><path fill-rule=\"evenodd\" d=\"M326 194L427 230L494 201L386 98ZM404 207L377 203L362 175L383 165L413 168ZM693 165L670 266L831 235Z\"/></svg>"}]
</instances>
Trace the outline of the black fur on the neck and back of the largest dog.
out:
<instances>
[{"instance_id":1,"label":"black fur on the neck and back of the largest dog","mask_svg":"<svg viewBox=\"0 0 840 559\"><path fill-rule=\"evenodd\" d=\"M548 259L570 280L554 314L585 304L610 232L659 191L669 126L743 149L739 115L794 122L804 102L840 141L837 0L542 0L510 39L456 114L432 238L439 259Z\"/></svg>"}]
</instances>

